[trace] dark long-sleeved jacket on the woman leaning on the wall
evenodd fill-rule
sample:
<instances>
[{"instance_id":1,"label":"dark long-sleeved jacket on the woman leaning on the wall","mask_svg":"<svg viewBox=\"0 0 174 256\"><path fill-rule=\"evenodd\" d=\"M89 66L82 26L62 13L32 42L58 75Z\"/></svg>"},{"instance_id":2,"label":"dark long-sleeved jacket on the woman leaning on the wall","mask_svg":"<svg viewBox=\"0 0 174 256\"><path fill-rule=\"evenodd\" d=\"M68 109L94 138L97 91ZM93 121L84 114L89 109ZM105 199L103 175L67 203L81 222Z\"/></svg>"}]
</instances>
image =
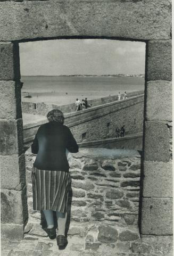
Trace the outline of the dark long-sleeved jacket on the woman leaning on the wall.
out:
<instances>
[{"instance_id":1,"label":"dark long-sleeved jacket on the woman leaning on the wall","mask_svg":"<svg viewBox=\"0 0 174 256\"><path fill-rule=\"evenodd\" d=\"M40 170L68 171L66 148L78 152L78 145L70 129L52 121L40 126L31 145L31 152L37 154L34 166Z\"/></svg>"}]
</instances>

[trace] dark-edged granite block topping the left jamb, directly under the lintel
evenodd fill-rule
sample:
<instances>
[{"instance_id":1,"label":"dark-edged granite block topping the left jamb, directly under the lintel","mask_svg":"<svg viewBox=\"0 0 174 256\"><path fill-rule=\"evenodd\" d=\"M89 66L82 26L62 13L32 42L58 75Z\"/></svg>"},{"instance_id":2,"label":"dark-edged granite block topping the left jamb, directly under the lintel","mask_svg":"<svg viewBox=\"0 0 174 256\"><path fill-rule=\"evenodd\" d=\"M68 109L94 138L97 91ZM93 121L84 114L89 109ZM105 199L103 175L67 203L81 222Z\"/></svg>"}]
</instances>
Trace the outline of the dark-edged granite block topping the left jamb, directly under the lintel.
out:
<instances>
[{"instance_id":1,"label":"dark-edged granite block topping the left jamb, directly under the lintel","mask_svg":"<svg viewBox=\"0 0 174 256\"><path fill-rule=\"evenodd\" d=\"M0 80L20 80L18 43L0 43Z\"/></svg>"}]
</instances>

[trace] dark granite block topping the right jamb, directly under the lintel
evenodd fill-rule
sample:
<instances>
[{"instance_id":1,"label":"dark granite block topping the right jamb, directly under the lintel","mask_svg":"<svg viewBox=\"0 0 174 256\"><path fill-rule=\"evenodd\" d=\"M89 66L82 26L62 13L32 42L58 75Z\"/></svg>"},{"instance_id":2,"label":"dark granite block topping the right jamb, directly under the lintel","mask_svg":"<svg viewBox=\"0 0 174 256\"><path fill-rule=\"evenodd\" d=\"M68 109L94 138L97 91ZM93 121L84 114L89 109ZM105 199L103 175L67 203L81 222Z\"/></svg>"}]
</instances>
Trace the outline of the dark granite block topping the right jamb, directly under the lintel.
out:
<instances>
[{"instance_id":1,"label":"dark granite block topping the right jamb, directly under the lintel","mask_svg":"<svg viewBox=\"0 0 174 256\"><path fill-rule=\"evenodd\" d=\"M147 81L171 81L171 40L152 40L147 43Z\"/></svg>"}]
</instances>

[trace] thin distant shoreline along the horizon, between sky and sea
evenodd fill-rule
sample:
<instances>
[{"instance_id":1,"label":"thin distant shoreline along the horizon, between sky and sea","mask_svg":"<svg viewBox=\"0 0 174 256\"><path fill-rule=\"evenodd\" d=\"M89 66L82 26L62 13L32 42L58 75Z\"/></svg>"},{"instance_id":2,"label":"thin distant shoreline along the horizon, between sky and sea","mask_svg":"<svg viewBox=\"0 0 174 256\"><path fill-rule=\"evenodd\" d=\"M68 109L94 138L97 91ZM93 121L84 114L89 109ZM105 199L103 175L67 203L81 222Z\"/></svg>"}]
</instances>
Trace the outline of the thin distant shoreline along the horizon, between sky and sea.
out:
<instances>
[{"instance_id":1,"label":"thin distant shoreline along the horizon, between sky and sea","mask_svg":"<svg viewBox=\"0 0 174 256\"><path fill-rule=\"evenodd\" d=\"M59 75L59 76L45 76L45 75L37 75L37 76L23 76L21 77L145 77L144 74L138 75L130 75L130 74L116 74L116 75Z\"/></svg>"}]
</instances>

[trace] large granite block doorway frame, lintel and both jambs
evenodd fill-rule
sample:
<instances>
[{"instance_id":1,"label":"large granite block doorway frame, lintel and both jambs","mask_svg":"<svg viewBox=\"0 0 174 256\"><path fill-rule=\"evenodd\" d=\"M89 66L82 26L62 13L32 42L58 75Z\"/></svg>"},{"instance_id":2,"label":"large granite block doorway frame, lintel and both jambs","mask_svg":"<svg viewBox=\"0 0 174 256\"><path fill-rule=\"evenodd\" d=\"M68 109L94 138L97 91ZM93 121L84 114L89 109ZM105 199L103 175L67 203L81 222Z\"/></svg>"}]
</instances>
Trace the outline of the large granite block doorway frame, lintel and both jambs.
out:
<instances>
[{"instance_id":1,"label":"large granite block doorway frame, lintel and both jambs","mask_svg":"<svg viewBox=\"0 0 174 256\"><path fill-rule=\"evenodd\" d=\"M0 6L2 234L22 237L27 221L18 43L103 37L147 44L141 233L171 235L170 1L6 1Z\"/></svg>"}]
</instances>

